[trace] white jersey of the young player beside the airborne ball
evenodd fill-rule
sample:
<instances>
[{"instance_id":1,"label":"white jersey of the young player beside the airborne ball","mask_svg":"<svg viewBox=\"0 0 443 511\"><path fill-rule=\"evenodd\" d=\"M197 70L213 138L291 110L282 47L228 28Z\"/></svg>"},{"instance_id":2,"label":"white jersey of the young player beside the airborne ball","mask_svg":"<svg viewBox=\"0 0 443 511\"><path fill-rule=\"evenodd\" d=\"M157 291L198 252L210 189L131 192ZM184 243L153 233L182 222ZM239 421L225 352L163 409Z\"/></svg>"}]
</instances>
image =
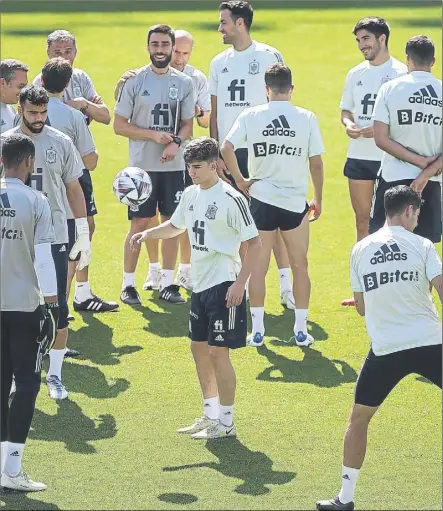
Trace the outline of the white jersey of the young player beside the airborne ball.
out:
<instances>
[{"instance_id":1,"label":"white jersey of the young player beside the airborne ball","mask_svg":"<svg viewBox=\"0 0 443 511\"><path fill-rule=\"evenodd\" d=\"M221 179L208 190L186 188L171 224L188 231L194 293L235 281L240 244L258 236L245 198Z\"/></svg>"}]
</instances>

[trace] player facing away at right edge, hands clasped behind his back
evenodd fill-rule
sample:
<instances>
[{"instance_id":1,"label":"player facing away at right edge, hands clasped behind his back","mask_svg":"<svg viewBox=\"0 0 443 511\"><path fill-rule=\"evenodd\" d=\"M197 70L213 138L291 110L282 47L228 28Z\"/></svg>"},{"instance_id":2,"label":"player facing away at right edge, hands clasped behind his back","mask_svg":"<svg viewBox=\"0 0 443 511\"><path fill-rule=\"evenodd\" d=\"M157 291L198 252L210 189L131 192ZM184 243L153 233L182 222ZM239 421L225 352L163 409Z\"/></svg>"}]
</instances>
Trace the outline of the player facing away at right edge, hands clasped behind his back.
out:
<instances>
[{"instance_id":1,"label":"player facing away at right edge, hands clasped behind his back","mask_svg":"<svg viewBox=\"0 0 443 511\"><path fill-rule=\"evenodd\" d=\"M375 142L384 152L369 230L385 222L386 190L403 184L422 194L415 233L441 240L442 82L431 73L434 43L415 36L406 44L409 74L380 89L375 104Z\"/></svg>"}]
</instances>

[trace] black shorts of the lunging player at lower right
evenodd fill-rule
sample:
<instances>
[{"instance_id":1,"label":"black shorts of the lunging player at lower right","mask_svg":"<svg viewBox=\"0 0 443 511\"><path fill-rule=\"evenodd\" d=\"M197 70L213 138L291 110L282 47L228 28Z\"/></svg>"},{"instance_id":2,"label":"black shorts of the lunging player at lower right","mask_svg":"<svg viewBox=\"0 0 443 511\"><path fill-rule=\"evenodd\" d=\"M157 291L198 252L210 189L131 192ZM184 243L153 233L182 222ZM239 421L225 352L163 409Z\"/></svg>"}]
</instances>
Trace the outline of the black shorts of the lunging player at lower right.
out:
<instances>
[{"instance_id":1,"label":"black shorts of the lunging player at lower right","mask_svg":"<svg viewBox=\"0 0 443 511\"><path fill-rule=\"evenodd\" d=\"M441 344L397 351L377 357L369 350L355 387L355 403L380 406L393 388L409 374L419 374L441 388Z\"/></svg>"}]
</instances>

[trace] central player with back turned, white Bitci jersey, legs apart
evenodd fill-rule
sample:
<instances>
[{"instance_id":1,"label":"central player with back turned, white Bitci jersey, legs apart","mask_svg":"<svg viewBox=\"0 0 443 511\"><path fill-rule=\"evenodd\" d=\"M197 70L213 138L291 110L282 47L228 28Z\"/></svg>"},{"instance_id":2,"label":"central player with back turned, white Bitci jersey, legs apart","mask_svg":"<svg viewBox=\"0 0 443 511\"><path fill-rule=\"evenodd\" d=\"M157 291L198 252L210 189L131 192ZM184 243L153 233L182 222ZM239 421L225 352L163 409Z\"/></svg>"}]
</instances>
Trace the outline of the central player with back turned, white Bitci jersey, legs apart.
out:
<instances>
[{"instance_id":1,"label":"central player with back turned, white Bitci jersey, legs apart","mask_svg":"<svg viewBox=\"0 0 443 511\"><path fill-rule=\"evenodd\" d=\"M264 342L265 278L272 247L280 230L293 273L294 336L298 346L314 339L307 331L311 282L308 274L309 211L321 214L323 141L316 116L290 104L294 86L291 70L271 65L265 73L265 105L247 108L225 138L221 154L239 190L251 196L251 213L260 232L262 250L249 281L252 317L251 346ZM239 169L235 148L247 145L250 179ZM311 174L314 197L308 204Z\"/></svg>"}]
</instances>

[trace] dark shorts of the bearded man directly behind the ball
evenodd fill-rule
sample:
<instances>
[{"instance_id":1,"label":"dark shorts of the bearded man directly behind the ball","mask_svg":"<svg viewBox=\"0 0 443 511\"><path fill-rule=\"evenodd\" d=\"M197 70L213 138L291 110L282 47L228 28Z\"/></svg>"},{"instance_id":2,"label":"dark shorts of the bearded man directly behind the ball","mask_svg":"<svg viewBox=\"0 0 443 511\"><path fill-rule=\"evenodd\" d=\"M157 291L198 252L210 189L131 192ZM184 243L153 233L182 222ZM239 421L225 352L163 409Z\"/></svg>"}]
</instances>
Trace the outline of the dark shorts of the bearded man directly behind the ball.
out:
<instances>
[{"instance_id":1,"label":"dark shorts of the bearded man directly behind the ball","mask_svg":"<svg viewBox=\"0 0 443 511\"><path fill-rule=\"evenodd\" d=\"M128 219L153 218L157 216L157 208L160 215L171 217L180 202L180 197L185 189L183 170L173 172L148 172L152 181L152 193L138 211L128 208Z\"/></svg>"}]
</instances>

